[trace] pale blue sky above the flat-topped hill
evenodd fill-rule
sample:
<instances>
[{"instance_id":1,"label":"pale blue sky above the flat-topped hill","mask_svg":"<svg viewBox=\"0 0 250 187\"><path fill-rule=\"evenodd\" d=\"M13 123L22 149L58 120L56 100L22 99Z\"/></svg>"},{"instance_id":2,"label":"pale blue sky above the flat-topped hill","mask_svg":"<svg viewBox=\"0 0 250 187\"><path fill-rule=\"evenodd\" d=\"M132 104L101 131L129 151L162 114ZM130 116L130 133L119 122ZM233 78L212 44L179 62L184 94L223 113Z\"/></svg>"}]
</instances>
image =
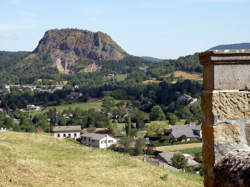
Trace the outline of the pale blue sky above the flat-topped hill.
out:
<instances>
[{"instance_id":1,"label":"pale blue sky above the flat-topped hill","mask_svg":"<svg viewBox=\"0 0 250 187\"><path fill-rule=\"evenodd\" d=\"M49 29L109 34L136 56L177 58L250 42L250 0L0 0L0 50L32 51Z\"/></svg>"}]
</instances>

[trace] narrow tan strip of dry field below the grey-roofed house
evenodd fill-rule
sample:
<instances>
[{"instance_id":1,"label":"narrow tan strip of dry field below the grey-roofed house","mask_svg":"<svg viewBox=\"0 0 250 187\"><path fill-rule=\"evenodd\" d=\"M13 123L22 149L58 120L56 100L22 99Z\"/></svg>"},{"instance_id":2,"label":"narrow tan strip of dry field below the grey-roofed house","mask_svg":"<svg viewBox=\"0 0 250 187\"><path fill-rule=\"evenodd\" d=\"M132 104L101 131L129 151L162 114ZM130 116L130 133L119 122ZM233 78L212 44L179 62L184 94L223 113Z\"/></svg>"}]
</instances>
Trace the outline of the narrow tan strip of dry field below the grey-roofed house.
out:
<instances>
[{"instance_id":1,"label":"narrow tan strip of dry field below the grey-roofed house","mask_svg":"<svg viewBox=\"0 0 250 187\"><path fill-rule=\"evenodd\" d=\"M191 149L196 147L202 147L202 143L191 143L191 144L179 144L179 145L169 145L169 146L160 146L156 147L157 151L178 151L184 149Z\"/></svg>"}]
</instances>

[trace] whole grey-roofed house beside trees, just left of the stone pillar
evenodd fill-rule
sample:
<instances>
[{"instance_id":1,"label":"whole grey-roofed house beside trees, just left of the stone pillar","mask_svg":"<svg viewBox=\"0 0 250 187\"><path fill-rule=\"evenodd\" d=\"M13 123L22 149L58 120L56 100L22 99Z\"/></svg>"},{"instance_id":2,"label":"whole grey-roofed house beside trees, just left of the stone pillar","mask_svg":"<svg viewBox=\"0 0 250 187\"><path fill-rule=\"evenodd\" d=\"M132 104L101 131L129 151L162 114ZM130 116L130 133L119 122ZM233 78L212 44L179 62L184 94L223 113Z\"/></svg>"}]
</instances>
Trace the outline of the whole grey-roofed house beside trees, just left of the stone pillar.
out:
<instances>
[{"instance_id":1,"label":"whole grey-roofed house beside trees, just left of the stone pillar","mask_svg":"<svg viewBox=\"0 0 250 187\"><path fill-rule=\"evenodd\" d=\"M170 125L169 139L172 141L190 141L202 138L201 125Z\"/></svg>"}]
</instances>

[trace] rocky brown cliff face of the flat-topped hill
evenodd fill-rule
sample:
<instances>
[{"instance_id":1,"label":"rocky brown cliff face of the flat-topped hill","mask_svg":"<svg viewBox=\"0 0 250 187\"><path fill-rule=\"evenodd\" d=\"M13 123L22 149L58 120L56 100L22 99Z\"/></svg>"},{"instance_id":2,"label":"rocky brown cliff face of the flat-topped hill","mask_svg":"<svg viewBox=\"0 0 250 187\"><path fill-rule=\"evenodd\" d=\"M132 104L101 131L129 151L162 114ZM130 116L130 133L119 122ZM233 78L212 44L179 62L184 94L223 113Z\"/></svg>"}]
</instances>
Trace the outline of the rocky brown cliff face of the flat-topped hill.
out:
<instances>
[{"instance_id":1,"label":"rocky brown cliff face of the flat-topped hill","mask_svg":"<svg viewBox=\"0 0 250 187\"><path fill-rule=\"evenodd\" d=\"M127 56L107 34L78 29L47 31L33 51L34 54L50 57L59 72L66 74L75 72L80 60L84 60L87 67L86 70L82 66L80 71L89 72L89 69L100 69L104 61L119 61Z\"/></svg>"}]
</instances>

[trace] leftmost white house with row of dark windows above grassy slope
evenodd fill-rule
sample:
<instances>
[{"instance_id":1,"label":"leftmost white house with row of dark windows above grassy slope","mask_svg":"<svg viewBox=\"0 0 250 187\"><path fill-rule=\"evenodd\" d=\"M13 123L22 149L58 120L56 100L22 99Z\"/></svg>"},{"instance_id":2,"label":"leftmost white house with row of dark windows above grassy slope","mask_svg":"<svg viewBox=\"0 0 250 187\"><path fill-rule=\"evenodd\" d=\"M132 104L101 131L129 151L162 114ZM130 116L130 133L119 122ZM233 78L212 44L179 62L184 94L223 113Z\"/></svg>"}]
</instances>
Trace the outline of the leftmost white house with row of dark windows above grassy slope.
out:
<instances>
[{"instance_id":1,"label":"leftmost white house with row of dark windows above grassy slope","mask_svg":"<svg viewBox=\"0 0 250 187\"><path fill-rule=\"evenodd\" d=\"M54 126L52 133L55 138L80 138L81 126Z\"/></svg>"}]
</instances>

